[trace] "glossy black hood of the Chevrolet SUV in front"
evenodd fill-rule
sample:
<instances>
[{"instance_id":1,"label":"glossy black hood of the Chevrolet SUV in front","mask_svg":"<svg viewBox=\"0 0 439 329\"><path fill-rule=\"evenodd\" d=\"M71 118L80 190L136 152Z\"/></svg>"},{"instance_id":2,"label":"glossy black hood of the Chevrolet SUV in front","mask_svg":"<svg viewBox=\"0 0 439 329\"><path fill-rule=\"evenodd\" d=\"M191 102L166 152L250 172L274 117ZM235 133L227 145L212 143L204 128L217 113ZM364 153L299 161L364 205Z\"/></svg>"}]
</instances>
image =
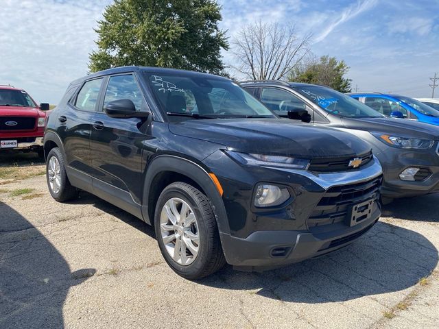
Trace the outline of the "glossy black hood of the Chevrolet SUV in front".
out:
<instances>
[{"instance_id":1,"label":"glossy black hood of the Chevrolet SUV in front","mask_svg":"<svg viewBox=\"0 0 439 329\"><path fill-rule=\"evenodd\" d=\"M370 147L359 138L331 128L292 123L288 119L212 119L171 123L180 136L222 144L254 154L330 158L359 156Z\"/></svg>"}]
</instances>

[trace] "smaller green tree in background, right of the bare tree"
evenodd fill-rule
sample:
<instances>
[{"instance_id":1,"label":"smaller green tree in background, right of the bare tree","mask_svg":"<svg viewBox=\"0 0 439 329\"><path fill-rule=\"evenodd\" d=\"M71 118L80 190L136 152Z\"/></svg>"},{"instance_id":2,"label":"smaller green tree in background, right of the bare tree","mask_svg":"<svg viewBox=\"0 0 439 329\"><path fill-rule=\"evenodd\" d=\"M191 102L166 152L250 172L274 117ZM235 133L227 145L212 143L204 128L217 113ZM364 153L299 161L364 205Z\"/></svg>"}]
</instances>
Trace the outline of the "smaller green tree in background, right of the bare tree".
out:
<instances>
[{"instance_id":1,"label":"smaller green tree in background, right of the bare tree","mask_svg":"<svg viewBox=\"0 0 439 329\"><path fill-rule=\"evenodd\" d=\"M344 60L337 61L335 57L322 56L320 62L315 60L295 69L288 80L291 82L305 82L308 84L324 84L342 93L350 93L351 79L344 77L349 66Z\"/></svg>"}]
</instances>

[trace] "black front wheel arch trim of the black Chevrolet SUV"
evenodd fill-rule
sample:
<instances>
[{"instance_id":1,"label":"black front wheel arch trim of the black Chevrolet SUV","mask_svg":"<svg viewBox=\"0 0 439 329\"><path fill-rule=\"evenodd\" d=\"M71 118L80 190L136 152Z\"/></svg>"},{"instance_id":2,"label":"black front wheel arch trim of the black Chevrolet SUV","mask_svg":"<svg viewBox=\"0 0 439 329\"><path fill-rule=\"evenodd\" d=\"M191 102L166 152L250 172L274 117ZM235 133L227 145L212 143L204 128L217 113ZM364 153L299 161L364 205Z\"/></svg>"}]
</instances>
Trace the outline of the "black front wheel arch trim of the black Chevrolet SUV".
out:
<instances>
[{"instance_id":1,"label":"black front wheel arch trim of the black Chevrolet SUV","mask_svg":"<svg viewBox=\"0 0 439 329\"><path fill-rule=\"evenodd\" d=\"M173 182L186 182L198 188L211 202L219 232L230 233L226 208L207 169L186 158L156 156L148 165L143 186L142 214L154 224L156 202L163 189Z\"/></svg>"}]
</instances>

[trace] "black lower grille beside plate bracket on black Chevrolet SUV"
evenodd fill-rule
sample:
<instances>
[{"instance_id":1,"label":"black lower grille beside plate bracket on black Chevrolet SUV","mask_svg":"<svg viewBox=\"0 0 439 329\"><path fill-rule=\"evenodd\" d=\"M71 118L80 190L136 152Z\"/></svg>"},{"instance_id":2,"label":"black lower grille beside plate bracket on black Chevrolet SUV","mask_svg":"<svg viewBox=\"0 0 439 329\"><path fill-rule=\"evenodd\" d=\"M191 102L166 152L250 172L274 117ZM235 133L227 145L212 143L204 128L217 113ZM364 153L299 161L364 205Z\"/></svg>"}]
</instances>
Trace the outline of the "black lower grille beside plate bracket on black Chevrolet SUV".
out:
<instances>
[{"instance_id":1,"label":"black lower grille beside plate bracket on black Chevrolet SUV","mask_svg":"<svg viewBox=\"0 0 439 329\"><path fill-rule=\"evenodd\" d=\"M322 226L342 222L347 225L353 206L370 199L379 199L382 181L383 177L379 176L366 182L329 188L307 221L309 230L322 232ZM375 202L374 207L376 206Z\"/></svg>"}]
</instances>

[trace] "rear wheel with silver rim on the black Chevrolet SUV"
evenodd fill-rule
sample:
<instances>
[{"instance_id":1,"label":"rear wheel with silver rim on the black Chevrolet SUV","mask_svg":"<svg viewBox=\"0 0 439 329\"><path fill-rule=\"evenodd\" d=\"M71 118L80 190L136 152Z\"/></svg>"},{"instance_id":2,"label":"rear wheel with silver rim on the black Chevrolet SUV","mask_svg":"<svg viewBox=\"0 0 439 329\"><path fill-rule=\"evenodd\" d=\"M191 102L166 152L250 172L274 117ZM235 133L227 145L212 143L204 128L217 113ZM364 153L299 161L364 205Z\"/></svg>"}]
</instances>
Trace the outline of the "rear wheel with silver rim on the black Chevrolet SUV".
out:
<instances>
[{"instance_id":1,"label":"rear wheel with silver rim on the black Chevrolet SUV","mask_svg":"<svg viewBox=\"0 0 439 329\"><path fill-rule=\"evenodd\" d=\"M67 178L64 158L58 147L47 155L46 179L50 195L58 202L65 202L78 197L78 190L71 186Z\"/></svg>"}]
</instances>

